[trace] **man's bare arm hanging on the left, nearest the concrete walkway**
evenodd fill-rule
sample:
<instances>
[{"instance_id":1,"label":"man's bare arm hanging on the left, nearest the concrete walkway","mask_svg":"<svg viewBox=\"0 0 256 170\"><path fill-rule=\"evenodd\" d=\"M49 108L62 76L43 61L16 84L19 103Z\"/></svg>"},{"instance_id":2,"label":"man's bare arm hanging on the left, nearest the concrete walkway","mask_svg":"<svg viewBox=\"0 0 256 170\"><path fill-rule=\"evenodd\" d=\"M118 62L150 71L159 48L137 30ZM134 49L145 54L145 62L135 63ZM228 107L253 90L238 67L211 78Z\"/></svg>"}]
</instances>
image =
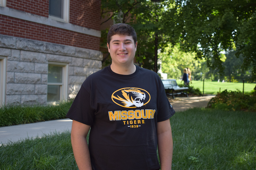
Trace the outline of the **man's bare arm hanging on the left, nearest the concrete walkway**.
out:
<instances>
[{"instance_id":1,"label":"man's bare arm hanging on the left, nearest the concrete walkway","mask_svg":"<svg viewBox=\"0 0 256 170\"><path fill-rule=\"evenodd\" d=\"M90 153L86 136L90 126L73 120L71 129L71 144L79 170L92 170Z\"/></svg>"}]
</instances>

